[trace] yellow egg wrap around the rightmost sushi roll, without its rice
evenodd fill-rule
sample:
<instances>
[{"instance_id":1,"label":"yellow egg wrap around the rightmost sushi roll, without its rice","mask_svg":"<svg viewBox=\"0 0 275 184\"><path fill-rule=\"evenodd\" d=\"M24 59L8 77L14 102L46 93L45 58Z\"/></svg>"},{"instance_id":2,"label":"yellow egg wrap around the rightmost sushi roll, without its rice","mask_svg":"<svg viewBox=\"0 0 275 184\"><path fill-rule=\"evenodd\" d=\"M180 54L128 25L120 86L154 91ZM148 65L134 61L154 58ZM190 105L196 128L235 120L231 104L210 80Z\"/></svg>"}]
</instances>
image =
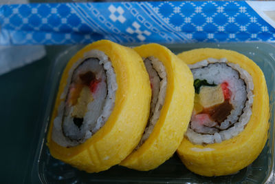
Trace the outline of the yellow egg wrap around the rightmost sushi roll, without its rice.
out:
<instances>
[{"instance_id":1,"label":"yellow egg wrap around the rightmost sushi roll, without its rice","mask_svg":"<svg viewBox=\"0 0 275 184\"><path fill-rule=\"evenodd\" d=\"M177 150L181 161L189 170L203 176L233 174L250 165L263 150L269 127L269 97L263 72L251 59L231 50L201 48L182 52L178 57L187 64L226 58L246 70L254 83L252 115L243 132L221 143L204 146L192 144L184 137Z\"/></svg>"}]
</instances>

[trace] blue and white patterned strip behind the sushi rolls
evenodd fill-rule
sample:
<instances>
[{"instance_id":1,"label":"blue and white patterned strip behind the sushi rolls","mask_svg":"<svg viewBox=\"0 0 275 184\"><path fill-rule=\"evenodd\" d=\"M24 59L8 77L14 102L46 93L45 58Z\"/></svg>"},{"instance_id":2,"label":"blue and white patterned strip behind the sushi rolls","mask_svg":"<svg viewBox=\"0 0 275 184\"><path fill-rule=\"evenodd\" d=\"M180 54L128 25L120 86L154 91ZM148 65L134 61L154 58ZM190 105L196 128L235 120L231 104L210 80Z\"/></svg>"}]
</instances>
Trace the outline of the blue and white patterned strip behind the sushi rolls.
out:
<instances>
[{"instance_id":1,"label":"blue and white patterned strip behind the sushi rolls","mask_svg":"<svg viewBox=\"0 0 275 184\"><path fill-rule=\"evenodd\" d=\"M245 1L3 5L0 31L0 45L275 41Z\"/></svg>"}]
</instances>

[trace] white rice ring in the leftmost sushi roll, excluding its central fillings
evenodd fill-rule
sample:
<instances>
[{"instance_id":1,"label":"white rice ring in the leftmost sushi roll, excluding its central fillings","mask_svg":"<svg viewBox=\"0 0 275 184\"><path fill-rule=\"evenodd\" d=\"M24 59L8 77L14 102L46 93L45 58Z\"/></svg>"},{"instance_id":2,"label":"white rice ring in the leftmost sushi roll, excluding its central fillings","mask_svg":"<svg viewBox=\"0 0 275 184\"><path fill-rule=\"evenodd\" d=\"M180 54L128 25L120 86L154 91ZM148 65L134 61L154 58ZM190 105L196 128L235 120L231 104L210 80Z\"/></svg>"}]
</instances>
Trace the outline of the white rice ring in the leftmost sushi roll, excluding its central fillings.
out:
<instances>
[{"instance_id":1,"label":"white rice ring in the leftmost sushi roll, excluding its central fillings","mask_svg":"<svg viewBox=\"0 0 275 184\"><path fill-rule=\"evenodd\" d=\"M81 67L83 61L85 61L86 59L89 59L89 58L96 58L99 60L99 64L103 65L104 71L102 71L102 72L105 72L106 77L104 78L105 74L103 74L102 79L103 80L106 79L107 87L106 87L106 83L104 83L104 82L98 83L98 88L100 88L100 90L97 90L97 92L95 92L93 94L94 101L91 101L87 105L87 112L85 113L85 116L83 117L83 125L80 127L80 132L79 132L79 130L76 130L76 125L74 125L74 123L70 124L71 128L76 130L76 131L70 130L70 131L72 131L70 133L76 135L76 137L78 137L78 136L82 137L80 140L72 140L72 139L69 139L67 136L65 136L65 134L63 134L63 122L62 121L63 121L63 116L65 113L65 100L66 100L66 96L67 96L67 93L69 90L69 86L70 86L72 80L74 80L74 79L72 79L74 71L76 70L76 68L78 68L78 66ZM83 65L84 64L85 64L85 62L83 63ZM93 72L93 70L95 70L95 68L93 68L92 63L87 63L87 64L85 64L85 67L80 68L80 70L78 70L78 71L85 72L85 70L87 70L87 68L92 72ZM94 72L100 72L100 71L94 71ZM76 74L76 76L77 76L77 74ZM117 85L116 79L115 79L115 72L111 65L111 61L109 61L109 58L107 57L107 55L104 54L104 52L102 52L100 50L91 50L89 52L86 52L84 54L84 58L80 59L76 63L74 63L72 68L69 70L69 77L67 79L67 85L64 88L63 94L61 94L62 102L58 106L58 115L54 119L54 126L52 129L52 140L54 142L58 143L58 145L61 145L63 147L72 147L72 146L76 146L76 145L79 145L80 143L84 143L85 141L87 141L87 139L89 139L94 133L96 133L100 129L100 127L102 127L104 125L104 123L107 121L107 119L109 118L109 116L113 110L114 103L115 103L115 92L117 89L118 89L118 85ZM107 96L106 96L106 94L107 94ZM69 114L70 114L70 112L69 112ZM72 121L72 117L69 121Z\"/></svg>"}]
</instances>

